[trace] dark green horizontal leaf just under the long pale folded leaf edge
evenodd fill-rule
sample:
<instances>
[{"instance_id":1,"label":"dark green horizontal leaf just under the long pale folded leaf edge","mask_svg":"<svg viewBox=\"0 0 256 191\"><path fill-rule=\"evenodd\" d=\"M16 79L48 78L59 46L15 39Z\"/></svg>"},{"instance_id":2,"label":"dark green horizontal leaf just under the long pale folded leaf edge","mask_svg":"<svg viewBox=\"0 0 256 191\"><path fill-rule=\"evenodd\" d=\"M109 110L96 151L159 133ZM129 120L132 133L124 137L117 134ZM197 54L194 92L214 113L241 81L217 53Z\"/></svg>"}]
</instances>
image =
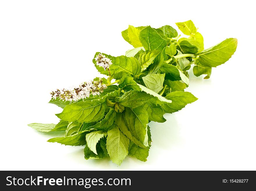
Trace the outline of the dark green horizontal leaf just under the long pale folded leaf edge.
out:
<instances>
[{"instance_id":1,"label":"dark green horizontal leaf just under the long pale folded leaf edge","mask_svg":"<svg viewBox=\"0 0 256 191\"><path fill-rule=\"evenodd\" d=\"M129 92L125 92L121 97L117 97L115 101L121 106L134 108L145 104L151 98L151 95L146 92L130 90Z\"/></svg>"}]
</instances>

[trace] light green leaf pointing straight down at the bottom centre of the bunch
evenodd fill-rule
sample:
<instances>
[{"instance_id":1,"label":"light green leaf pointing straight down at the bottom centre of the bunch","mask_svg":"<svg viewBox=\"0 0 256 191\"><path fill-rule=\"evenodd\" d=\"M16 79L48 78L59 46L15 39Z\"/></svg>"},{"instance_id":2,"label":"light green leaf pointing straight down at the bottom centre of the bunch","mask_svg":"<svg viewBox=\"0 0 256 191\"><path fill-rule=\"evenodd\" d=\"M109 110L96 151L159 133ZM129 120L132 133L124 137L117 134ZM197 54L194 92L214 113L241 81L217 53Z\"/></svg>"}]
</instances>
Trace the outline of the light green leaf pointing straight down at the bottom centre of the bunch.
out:
<instances>
[{"instance_id":1,"label":"light green leaf pointing straight down at the bottom centre of the bunch","mask_svg":"<svg viewBox=\"0 0 256 191\"><path fill-rule=\"evenodd\" d=\"M115 126L108 131L106 146L110 159L120 165L128 154L129 139Z\"/></svg>"}]
</instances>

